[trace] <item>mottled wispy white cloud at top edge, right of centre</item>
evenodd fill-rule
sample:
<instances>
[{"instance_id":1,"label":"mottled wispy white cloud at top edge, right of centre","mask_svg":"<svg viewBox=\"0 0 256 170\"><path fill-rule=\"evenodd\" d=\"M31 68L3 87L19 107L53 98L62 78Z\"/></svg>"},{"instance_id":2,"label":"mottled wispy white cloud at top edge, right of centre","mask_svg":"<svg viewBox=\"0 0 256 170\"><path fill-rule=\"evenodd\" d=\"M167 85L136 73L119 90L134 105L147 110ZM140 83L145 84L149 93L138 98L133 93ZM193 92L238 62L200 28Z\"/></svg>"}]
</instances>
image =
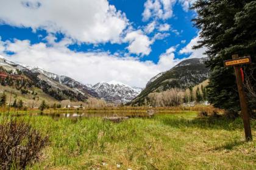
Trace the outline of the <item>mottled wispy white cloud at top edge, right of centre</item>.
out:
<instances>
[{"instance_id":1,"label":"mottled wispy white cloud at top edge, right of centre","mask_svg":"<svg viewBox=\"0 0 256 170\"><path fill-rule=\"evenodd\" d=\"M143 21L149 18L168 19L172 16L172 6L176 0L148 0L144 4L144 12L142 13Z\"/></svg>"}]
</instances>

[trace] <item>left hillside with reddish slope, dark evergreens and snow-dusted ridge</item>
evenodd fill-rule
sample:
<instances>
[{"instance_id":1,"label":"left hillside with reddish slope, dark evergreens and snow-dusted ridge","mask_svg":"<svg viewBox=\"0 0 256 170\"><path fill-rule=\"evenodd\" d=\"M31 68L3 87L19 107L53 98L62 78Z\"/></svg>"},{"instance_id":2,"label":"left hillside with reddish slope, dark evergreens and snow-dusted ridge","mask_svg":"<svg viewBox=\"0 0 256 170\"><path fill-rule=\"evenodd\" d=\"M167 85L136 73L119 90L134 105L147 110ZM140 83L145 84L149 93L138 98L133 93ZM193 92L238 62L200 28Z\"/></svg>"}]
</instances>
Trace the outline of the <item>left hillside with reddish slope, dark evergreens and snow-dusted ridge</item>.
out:
<instances>
[{"instance_id":1,"label":"left hillside with reddish slope, dark evergreens and snow-dusted ridge","mask_svg":"<svg viewBox=\"0 0 256 170\"><path fill-rule=\"evenodd\" d=\"M88 97L97 97L96 92L88 89L68 77L57 80L57 75L44 70L28 69L25 66L0 59L1 85L13 87L27 94L36 87L55 100L85 101Z\"/></svg>"}]
</instances>

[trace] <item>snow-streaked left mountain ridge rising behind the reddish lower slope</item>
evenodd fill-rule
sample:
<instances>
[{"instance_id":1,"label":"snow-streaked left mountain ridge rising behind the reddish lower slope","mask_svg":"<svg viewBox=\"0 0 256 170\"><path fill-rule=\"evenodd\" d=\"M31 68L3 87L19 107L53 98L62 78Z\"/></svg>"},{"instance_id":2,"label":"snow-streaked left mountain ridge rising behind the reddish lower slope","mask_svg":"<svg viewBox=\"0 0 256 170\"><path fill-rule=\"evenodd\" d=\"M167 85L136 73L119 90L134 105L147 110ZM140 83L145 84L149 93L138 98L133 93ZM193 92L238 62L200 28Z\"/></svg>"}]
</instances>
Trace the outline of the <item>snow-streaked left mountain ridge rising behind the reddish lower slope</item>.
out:
<instances>
[{"instance_id":1,"label":"snow-streaked left mountain ridge rising behind the reddish lower slope","mask_svg":"<svg viewBox=\"0 0 256 170\"><path fill-rule=\"evenodd\" d=\"M38 87L41 87L44 92L54 94L54 97L58 100L64 98L77 98L82 100L88 97L99 97L91 87L87 87L85 84L79 83L64 75L48 72L40 67L16 64L4 58L0 58L0 66L7 70L13 70L13 72L16 72L16 69L20 70L24 75L29 77L30 80L34 81Z\"/></svg>"}]
</instances>

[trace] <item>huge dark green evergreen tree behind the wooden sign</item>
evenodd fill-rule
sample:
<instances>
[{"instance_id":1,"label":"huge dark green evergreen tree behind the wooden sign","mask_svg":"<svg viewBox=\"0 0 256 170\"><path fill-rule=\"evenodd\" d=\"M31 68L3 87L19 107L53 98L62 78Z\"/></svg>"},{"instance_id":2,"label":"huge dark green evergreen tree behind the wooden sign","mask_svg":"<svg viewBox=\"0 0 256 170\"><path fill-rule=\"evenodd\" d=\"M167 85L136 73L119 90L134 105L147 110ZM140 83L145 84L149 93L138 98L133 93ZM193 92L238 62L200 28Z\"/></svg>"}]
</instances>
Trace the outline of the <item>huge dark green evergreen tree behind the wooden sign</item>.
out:
<instances>
[{"instance_id":1,"label":"huge dark green evergreen tree behind the wooden sign","mask_svg":"<svg viewBox=\"0 0 256 170\"><path fill-rule=\"evenodd\" d=\"M201 30L199 45L207 47L207 66L212 71L207 87L207 99L215 107L240 110L236 79L233 67L224 67L223 61L233 54L251 55L256 60L256 1L197 0L192 9L197 11L194 24ZM243 66L252 70L249 81L256 89L255 64ZM245 72L246 73L246 72ZM248 98L251 108L256 104Z\"/></svg>"}]
</instances>

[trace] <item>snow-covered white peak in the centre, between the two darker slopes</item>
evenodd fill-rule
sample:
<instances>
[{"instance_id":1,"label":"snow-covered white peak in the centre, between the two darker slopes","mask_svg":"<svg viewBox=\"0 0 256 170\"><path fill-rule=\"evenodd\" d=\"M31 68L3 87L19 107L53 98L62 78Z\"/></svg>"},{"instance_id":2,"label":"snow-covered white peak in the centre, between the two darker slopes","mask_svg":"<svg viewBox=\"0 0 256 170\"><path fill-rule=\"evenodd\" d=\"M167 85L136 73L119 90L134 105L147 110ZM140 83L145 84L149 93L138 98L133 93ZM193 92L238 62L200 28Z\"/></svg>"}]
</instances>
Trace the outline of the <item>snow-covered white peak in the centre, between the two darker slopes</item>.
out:
<instances>
[{"instance_id":1,"label":"snow-covered white peak in the centre, between the two darker slopes","mask_svg":"<svg viewBox=\"0 0 256 170\"><path fill-rule=\"evenodd\" d=\"M99 94L99 97L113 103L127 103L137 97L142 90L117 81L97 83L92 88Z\"/></svg>"}]
</instances>

